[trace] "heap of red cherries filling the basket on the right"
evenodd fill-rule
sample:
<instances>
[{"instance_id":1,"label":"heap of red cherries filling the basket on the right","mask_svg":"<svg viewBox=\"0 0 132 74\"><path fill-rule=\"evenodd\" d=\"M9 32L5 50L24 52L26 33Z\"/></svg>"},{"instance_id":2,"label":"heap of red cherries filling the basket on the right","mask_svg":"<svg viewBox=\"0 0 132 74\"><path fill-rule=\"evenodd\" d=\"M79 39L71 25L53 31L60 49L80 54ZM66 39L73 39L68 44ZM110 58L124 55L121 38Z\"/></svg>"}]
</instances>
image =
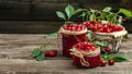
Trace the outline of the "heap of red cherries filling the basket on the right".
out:
<instances>
[{"instance_id":1,"label":"heap of red cherries filling the basket on the right","mask_svg":"<svg viewBox=\"0 0 132 74\"><path fill-rule=\"evenodd\" d=\"M101 21L92 21L84 23L89 29L98 33L113 33L123 30L123 26L119 26L112 23L102 23Z\"/></svg>"}]
</instances>

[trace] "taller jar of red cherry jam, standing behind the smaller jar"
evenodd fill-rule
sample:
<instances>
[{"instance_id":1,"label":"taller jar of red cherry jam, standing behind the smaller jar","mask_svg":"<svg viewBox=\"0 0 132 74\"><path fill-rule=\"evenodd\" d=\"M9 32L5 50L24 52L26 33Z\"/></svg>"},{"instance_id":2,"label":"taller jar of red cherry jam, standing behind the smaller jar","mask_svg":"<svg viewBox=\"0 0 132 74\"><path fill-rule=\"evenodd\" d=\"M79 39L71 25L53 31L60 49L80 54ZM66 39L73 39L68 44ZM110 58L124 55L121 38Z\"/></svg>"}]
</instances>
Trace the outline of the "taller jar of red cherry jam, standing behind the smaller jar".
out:
<instances>
[{"instance_id":1,"label":"taller jar of red cherry jam, standing behind the smaller jar","mask_svg":"<svg viewBox=\"0 0 132 74\"><path fill-rule=\"evenodd\" d=\"M82 24L66 24L61 27L59 33L63 41L63 55L72 58L69 49L79 41L86 40L87 28Z\"/></svg>"}]
</instances>

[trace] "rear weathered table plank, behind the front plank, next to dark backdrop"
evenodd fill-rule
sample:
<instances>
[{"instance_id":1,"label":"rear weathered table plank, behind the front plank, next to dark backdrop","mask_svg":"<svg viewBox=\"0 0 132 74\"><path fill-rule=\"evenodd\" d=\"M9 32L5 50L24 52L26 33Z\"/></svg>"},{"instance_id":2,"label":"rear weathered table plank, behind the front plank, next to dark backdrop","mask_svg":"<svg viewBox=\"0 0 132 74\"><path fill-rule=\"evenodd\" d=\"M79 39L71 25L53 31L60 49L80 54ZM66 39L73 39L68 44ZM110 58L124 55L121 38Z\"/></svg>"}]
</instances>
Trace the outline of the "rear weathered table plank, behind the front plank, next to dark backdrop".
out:
<instances>
[{"instance_id":1,"label":"rear weathered table plank, behind the front plank, next to dark backdrop","mask_svg":"<svg viewBox=\"0 0 132 74\"><path fill-rule=\"evenodd\" d=\"M18 34L1 34L0 35L0 58L11 58L11 59L32 59L31 58L31 51L42 46L42 44L46 44L50 41L51 44L45 47L45 50L52 50L57 49L58 50L58 58L62 58L62 47L61 42L56 45L56 36L46 38L44 42L43 41L44 35L18 35ZM120 52L118 54L129 54L131 57L132 52L132 38L131 35L130 39L128 41L122 42L122 47L120 49ZM132 57L131 57L132 58Z\"/></svg>"}]
</instances>

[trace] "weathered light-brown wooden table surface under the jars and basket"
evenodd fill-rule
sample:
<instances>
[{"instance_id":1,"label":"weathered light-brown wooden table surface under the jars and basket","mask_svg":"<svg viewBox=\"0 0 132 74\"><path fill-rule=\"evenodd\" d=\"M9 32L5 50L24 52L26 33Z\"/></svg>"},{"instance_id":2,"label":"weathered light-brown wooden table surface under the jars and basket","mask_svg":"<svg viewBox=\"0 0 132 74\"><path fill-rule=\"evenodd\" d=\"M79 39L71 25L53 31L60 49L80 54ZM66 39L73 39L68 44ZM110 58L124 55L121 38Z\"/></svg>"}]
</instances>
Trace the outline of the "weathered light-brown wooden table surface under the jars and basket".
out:
<instances>
[{"instance_id":1,"label":"weathered light-brown wooden table surface under the jars and basket","mask_svg":"<svg viewBox=\"0 0 132 74\"><path fill-rule=\"evenodd\" d=\"M77 69L72 59L62 55L56 36L44 39L41 34L0 34L0 74L132 74L132 35L122 42L117 54L128 54L129 61L95 69ZM59 40L61 41L61 40ZM37 62L31 51L42 44L50 42L45 50L57 49L56 58Z\"/></svg>"}]
</instances>

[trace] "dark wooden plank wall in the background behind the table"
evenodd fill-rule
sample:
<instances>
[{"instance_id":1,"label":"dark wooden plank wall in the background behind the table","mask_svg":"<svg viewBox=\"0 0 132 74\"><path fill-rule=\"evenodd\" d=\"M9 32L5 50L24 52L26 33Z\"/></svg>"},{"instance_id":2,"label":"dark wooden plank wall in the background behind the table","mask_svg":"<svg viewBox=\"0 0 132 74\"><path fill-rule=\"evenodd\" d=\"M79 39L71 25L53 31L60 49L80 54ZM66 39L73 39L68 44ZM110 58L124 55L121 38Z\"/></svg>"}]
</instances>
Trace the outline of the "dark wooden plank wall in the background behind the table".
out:
<instances>
[{"instance_id":1,"label":"dark wooden plank wall in the background behind the table","mask_svg":"<svg viewBox=\"0 0 132 74\"><path fill-rule=\"evenodd\" d=\"M0 33L53 33L63 25L55 11L64 11L70 3L75 8L114 10L127 8L121 0L0 0ZM131 20L124 23L129 33Z\"/></svg>"}]
</instances>

